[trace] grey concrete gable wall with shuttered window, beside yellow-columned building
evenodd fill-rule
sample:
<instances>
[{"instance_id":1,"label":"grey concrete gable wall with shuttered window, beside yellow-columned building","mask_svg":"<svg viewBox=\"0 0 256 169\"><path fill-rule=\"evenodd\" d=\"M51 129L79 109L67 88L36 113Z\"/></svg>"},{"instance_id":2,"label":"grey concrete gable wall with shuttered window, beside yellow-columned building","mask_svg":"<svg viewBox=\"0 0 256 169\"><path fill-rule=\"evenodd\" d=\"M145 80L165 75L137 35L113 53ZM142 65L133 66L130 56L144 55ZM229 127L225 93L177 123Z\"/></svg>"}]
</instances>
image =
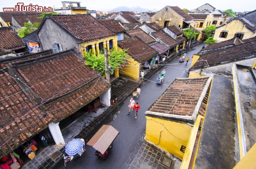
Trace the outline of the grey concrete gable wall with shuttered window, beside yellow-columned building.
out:
<instances>
[{"instance_id":1,"label":"grey concrete gable wall with shuttered window, beside yellow-columned building","mask_svg":"<svg viewBox=\"0 0 256 169\"><path fill-rule=\"evenodd\" d=\"M60 43L63 51L74 46L79 48L76 39L51 19L46 19L37 35L41 44L41 50L52 49L51 43L54 42Z\"/></svg>"}]
</instances>

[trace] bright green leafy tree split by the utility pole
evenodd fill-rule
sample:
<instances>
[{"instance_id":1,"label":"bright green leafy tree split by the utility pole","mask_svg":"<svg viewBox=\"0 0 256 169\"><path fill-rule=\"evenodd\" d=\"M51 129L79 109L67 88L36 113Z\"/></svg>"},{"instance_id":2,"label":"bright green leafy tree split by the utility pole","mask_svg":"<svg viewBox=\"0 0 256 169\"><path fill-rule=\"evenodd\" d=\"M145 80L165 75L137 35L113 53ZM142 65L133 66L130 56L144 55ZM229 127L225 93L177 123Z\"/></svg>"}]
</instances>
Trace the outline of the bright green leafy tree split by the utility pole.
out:
<instances>
[{"instance_id":1,"label":"bright green leafy tree split by the utility pole","mask_svg":"<svg viewBox=\"0 0 256 169\"><path fill-rule=\"evenodd\" d=\"M118 68L122 68L122 66L126 65L128 62L128 55L126 54L127 50L116 51L115 48L110 50L110 55L108 57L108 63L110 65L110 70L117 70ZM105 57L104 54L100 54L100 56L96 56L92 50L87 52L86 56L86 65L91 66L92 69L96 69L102 72L103 75L106 74L105 70ZM110 72L112 72L110 71Z\"/></svg>"}]
</instances>

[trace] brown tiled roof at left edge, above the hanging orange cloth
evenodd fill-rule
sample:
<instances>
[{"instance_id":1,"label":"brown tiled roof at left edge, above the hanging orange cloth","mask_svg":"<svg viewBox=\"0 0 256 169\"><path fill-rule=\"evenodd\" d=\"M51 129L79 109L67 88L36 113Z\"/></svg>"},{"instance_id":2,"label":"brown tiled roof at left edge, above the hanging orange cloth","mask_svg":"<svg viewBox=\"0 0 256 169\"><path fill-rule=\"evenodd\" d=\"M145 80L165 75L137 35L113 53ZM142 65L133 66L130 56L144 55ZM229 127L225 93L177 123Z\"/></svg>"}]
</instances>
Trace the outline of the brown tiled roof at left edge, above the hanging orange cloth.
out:
<instances>
[{"instance_id":1,"label":"brown tiled roof at left edge, above the hanging orange cloth","mask_svg":"<svg viewBox=\"0 0 256 169\"><path fill-rule=\"evenodd\" d=\"M11 49L26 45L17 34L13 33L9 28L0 28L0 47Z\"/></svg>"}]
</instances>

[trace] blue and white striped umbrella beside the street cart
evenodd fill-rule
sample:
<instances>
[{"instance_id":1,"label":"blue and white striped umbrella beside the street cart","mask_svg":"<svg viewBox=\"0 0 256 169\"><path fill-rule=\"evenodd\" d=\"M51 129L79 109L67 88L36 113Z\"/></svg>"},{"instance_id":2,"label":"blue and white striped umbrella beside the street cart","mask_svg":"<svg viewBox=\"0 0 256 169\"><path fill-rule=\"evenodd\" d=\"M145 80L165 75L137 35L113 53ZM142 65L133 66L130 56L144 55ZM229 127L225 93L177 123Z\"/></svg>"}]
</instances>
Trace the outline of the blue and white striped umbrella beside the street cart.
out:
<instances>
[{"instance_id":1,"label":"blue and white striped umbrella beside the street cart","mask_svg":"<svg viewBox=\"0 0 256 169\"><path fill-rule=\"evenodd\" d=\"M69 156L74 156L78 154L83 147L84 147L84 144L81 139L72 139L68 142L68 144L66 144L65 152Z\"/></svg>"}]
</instances>

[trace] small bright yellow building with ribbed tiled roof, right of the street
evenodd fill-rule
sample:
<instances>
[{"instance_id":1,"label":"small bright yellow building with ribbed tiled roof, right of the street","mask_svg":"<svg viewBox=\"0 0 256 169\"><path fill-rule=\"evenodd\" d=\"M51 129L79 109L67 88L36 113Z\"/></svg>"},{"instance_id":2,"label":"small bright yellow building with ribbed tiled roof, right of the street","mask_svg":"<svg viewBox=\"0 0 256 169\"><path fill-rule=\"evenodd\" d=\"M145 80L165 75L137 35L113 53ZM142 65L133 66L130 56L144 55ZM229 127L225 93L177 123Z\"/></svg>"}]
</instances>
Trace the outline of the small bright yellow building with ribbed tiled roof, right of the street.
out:
<instances>
[{"instance_id":1,"label":"small bright yellow building with ribbed tiled roof, right of the street","mask_svg":"<svg viewBox=\"0 0 256 169\"><path fill-rule=\"evenodd\" d=\"M204 116L211 81L212 77L176 78L145 112L145 139L183 159L192 126L198 115Z\"/></svg>"}]
</instances>

